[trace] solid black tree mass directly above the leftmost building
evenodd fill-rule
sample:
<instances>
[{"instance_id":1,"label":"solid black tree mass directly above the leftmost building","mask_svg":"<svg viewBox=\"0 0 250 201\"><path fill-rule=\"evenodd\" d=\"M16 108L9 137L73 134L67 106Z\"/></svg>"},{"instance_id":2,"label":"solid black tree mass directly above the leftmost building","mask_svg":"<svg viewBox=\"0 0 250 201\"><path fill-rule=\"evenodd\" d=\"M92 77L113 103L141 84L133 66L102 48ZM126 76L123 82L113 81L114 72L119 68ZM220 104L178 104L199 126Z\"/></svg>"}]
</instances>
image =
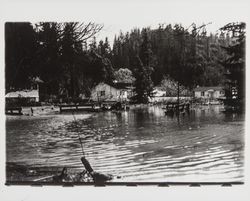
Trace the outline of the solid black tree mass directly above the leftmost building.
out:
<instances>
[{"instance_id":1,"label":"solid black tree mass directly above the leftmost building","mask_svg":"<svg viewBox=\"0 0 250 201\"><path fill-rule=\"evenodd\" d=\"M30 23L5 23L6 92L30 88L36 74L38 43Z\"/></svg>"}]
</instances>

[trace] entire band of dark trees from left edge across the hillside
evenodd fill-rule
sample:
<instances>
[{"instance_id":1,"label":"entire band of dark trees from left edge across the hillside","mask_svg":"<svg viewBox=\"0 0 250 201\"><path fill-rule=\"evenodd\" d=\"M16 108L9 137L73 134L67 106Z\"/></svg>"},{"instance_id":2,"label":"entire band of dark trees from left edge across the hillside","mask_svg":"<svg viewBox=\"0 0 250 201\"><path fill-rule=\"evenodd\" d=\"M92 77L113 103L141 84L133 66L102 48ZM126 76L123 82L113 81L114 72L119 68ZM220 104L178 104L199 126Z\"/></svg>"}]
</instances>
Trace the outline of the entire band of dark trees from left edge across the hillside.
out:
<instances>
[{"instance_id":1,"label":"entire band of dark trees from left edge across the hillside","mask_svg":"<svg viewBox=\"0 0 250 201\"><path fill-rule=\"evenodd\" d=\"M96 41L101 29L95 23L6 23L6 92L29 88L38 77L48 97L77 98L125 75L145 102L165 77L189 89L224 84L229 31L207 34L205 25L195 24L135 28L120 32L111 47L108 38Z\"/></svg>"}]
</instances>

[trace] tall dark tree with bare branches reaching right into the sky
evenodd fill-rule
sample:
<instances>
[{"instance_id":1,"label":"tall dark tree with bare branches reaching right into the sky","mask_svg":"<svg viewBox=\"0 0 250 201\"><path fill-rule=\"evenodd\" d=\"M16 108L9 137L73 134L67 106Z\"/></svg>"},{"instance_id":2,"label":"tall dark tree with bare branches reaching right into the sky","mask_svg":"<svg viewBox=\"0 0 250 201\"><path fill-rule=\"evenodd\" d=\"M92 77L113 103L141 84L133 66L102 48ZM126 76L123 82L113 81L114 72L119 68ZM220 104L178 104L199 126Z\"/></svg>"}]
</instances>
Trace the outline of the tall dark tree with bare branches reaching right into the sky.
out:
<instances>
[{"instance_id":1,"label":"tall dark tree with bare branches reaching right into the sky","mask_svg":"<svg viewBox=\"0 0 250 201\"><path fill-rule=\"evenodd\" d=\"M61 88L66 97L77 98L81 93L80 86L86 71L84 67L89 63L89 58L84 59L89 55L84 53L83 45L101 29L102 26L94 23L64 23L61 41L64 79Z\"/></svg>"}]
</instances>

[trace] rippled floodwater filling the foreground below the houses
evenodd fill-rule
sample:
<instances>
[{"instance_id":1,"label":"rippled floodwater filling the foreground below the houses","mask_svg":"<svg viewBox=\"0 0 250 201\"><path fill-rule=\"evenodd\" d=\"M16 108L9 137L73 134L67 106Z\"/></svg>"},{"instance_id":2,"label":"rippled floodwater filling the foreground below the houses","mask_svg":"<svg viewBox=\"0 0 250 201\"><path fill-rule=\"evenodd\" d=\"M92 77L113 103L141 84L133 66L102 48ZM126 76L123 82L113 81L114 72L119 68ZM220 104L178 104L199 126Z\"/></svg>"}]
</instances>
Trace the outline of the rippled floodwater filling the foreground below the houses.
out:
<instances>
[{"instance_id":1,"label":"rippled floodwater filling the foreground below the houses","mask_svg":"<svg viewBox=\"0 0 250 201\"><path fill-rule=\"evenodd\" d=\"M160 106L129 111L6 117L7 163L93 169L116 181L244 181L244 118L223 106L166 116Z\"/></svg>"}]
</instances>

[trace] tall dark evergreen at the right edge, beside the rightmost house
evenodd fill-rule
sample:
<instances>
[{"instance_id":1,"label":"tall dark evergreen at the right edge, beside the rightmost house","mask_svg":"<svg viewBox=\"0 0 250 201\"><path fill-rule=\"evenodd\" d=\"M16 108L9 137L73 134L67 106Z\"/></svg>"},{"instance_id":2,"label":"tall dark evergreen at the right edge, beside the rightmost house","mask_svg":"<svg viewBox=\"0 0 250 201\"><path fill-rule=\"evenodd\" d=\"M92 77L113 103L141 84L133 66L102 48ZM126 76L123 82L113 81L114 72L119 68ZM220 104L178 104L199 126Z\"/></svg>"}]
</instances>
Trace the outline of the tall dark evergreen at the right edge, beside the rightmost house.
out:
<instances>
[{"instance_id":1,"label":"tall dark evergreen at the right edge, beside the rightmost house","mask_svg":"<svg viewBox=\"0 0 250 201\"><path fill-rule=\"evenodd\" d=\"M241 23L229 23L221 31L231 33L232 42L224 46L228 57L223 61L226 69L227 104L244 108L245 104L245 26Z\"/></svg>"}]
</instances>

